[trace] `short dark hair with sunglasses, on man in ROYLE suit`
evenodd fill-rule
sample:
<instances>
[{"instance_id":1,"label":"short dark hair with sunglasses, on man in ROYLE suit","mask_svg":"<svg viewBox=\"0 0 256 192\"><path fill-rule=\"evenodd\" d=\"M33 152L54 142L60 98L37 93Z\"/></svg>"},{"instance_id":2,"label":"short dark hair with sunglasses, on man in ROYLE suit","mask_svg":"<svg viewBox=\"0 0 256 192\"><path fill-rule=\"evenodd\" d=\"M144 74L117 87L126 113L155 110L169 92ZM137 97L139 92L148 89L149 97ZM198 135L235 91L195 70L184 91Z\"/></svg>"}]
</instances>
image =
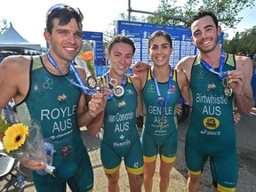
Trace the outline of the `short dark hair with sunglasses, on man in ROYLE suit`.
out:
<instances>
[{"instance_id":1,"label":"short dark hair with sunglasses, on man in ROYLE suit","mask_svg":"<svg viewBox=\"0 0 256 192\"><path fill-rule=\"evenodd\" d=\"M52 20L60 20L59 25L65 26L71 19L75 19L79 29L83 30L82 21L84 15L78 8L70 7L66 4L55 4L46 13L46 30L52 34L53 23Z\"/></svg>"}]
</instances>

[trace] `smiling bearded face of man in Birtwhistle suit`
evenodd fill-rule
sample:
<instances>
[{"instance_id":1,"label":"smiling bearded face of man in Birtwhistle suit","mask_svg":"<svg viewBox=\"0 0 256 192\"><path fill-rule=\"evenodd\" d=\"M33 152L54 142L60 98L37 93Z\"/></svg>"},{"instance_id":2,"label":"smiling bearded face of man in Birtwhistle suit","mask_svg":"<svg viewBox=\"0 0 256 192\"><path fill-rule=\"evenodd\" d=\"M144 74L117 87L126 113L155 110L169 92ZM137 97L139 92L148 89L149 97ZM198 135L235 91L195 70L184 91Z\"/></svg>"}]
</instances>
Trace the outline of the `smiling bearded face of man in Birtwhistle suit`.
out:
<instances>
[{"instance_id":1,"label":"smiling bearded face of man in Birtwhistle suit","mask_svg":"<svg viewBox=\"0 0 256 192\"><path fill-rule=\"evenodd\" d=\"M212 52L219 44L220 26L216 28L212 17L204 16L191 25L192 40L200 52Z\"/></svg>"}]
</instances>

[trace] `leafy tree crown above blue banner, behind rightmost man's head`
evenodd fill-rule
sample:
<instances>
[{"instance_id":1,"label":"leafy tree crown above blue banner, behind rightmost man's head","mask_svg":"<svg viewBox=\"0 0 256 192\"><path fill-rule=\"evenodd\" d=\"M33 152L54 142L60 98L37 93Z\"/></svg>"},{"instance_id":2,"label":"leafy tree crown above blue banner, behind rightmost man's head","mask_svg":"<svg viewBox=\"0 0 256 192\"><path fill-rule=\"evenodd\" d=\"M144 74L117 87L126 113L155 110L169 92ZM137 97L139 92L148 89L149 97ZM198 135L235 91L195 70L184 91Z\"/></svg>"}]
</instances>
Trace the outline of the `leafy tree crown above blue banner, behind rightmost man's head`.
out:
<instances>
[{"instance_id":1,"label":"leafy tree crown above blue banner, behind rightmost man's head","mask_svg":"<svg viewBox=\"0 0 256 192\"><path fill-rule=\"evenodd\" d=\"M198 11L215 12L220 23L226 28L236 28L243 19L238 13L244 8L255 6L255 0L188 0L183 6L177 5L177 0L159 0L156 12L172 17L158 15L148 16L148 22L161 25L190 26L189 18Z\"/></svg>"}]
</instances>

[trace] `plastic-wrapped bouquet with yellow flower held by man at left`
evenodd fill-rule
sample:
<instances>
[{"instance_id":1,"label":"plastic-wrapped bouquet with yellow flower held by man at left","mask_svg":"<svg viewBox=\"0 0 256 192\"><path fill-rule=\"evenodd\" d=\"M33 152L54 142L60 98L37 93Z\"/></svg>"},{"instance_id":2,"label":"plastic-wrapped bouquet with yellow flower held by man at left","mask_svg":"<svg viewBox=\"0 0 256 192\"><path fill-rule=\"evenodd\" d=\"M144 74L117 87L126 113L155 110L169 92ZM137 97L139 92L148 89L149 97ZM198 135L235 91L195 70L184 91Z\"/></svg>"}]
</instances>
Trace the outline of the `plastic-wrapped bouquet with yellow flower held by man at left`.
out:
<instances>
[{"instance_id":1,"label":"plastic-wrapped bouquet with yellow flower held by man at left","mask_svg":"<svg viewBox=\"0 0 256 192\"><path fill-rule=\"evenodd\" d=\"M20 161L40 161L47 165L43 132L38 121L28 120L26 124L21 123L17 113L2 109L0 132L4 133L2 142L5 155ZM52 174L53 170L54 167L47 165L45 172Z\"/></svg>"}]
</instances>

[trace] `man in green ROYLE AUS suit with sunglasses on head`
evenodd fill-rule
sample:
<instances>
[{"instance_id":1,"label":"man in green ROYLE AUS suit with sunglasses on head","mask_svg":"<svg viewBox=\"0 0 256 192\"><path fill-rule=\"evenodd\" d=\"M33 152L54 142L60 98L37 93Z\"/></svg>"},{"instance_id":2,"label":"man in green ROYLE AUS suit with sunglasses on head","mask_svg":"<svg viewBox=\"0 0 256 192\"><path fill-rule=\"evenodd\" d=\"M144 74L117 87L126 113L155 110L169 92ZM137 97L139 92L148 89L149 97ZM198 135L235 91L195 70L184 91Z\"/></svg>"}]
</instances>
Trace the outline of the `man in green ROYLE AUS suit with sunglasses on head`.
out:
<instances>
[{"instance_id":1,"label":"man in green ROYLE AUS suit with sunglasses on head","mask_svg":"<svg viewBox=\"0 0 256 192\"><path fill-rule=\"evenodd\" d=\"M104 109L103 94L85 95L83 68L73 60L81 50L83 14L65 4L46 14L44 38L49 52L34 57L10 56L0 64L0 108L14 100L17 113L40 121L44 137L52 140L53 172L40 175L46 165L22 161L32 170L36 191L92 191L92 164L79 127L89 124ZM70 68L69 68L70 66ZM77 77L75 74L79 77ZM83 88L83 89L81 89Z\"/></svg>"}]
</instances>

